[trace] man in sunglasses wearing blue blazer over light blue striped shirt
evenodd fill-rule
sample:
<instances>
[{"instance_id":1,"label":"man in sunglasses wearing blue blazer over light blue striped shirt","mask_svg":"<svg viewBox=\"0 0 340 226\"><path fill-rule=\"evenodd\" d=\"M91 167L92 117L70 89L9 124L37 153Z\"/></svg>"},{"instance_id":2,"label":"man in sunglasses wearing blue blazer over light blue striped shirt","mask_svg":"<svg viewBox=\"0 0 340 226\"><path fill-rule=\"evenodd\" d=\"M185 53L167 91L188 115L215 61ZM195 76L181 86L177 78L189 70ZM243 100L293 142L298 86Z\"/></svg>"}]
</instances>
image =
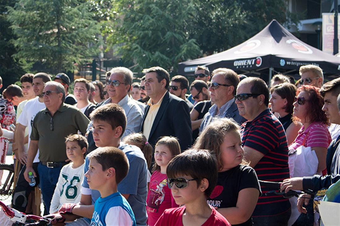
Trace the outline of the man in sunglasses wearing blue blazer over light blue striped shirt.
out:
<instances>
[{"instance_id":1,"label":"man in sunglasses wearing blue blazer over light blue striped shirt","mask_svg":"<svg viewBox=\"0 0 340 226\"><path fill-rule=\"evenodd\" d=\"M227 68L217 68L212 71L209 83L211 102L214 103L205 114L200 131L202 131L214 118L233 118L238 124L246 120L240 116L235 104L236 87L240 82L235 71Z\"/></svg>"}]
</instances>

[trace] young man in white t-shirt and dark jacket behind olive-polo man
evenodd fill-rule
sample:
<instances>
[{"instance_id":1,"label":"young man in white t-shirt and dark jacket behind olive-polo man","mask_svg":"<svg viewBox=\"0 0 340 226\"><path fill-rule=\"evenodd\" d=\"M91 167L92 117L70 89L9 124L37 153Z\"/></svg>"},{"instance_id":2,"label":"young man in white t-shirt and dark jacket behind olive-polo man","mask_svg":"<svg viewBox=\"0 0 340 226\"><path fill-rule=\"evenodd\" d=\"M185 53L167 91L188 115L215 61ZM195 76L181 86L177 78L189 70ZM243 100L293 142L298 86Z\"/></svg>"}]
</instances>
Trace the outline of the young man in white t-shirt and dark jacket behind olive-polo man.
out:
<instances>
[{"instance_id":1,"label":"young man in white t-shirt and dark jacket behind olive-polo man","mask_svg":"<svg viewBox=\"0 0 340 226\"><path fill-rule=\"evenodd\" d=\"M96 105L88 100L90 95L90 83L83 78L74 80L73 94L77 100L77 103L74 104L74 106L79 108L87 118L90 118L89 115L96 108Z\"/></svg>"}]
</instances>

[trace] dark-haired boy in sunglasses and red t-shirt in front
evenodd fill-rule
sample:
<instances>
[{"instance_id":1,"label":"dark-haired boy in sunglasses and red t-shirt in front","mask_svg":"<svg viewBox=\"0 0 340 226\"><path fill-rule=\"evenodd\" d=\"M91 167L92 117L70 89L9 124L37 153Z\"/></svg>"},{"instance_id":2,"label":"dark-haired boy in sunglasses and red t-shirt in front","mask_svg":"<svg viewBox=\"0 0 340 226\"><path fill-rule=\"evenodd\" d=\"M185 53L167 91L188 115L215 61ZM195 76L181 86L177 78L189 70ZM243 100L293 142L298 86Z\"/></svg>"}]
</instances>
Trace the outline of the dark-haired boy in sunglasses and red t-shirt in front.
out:
<instances>
[{"instance_id":1,"label":"dark-haired boy in sunglasses and red t-shirt in front","mask_svg":"<svg viewBox=\"0 0 340 226\"><path fill-rule=\"evenodd\" d=\"M164 211L156 226L230 225L207 203L217 183L217 164L207 150L190 149L173 158L167 166L167 183L179 208Z\"/></svg>"}]
</instances>

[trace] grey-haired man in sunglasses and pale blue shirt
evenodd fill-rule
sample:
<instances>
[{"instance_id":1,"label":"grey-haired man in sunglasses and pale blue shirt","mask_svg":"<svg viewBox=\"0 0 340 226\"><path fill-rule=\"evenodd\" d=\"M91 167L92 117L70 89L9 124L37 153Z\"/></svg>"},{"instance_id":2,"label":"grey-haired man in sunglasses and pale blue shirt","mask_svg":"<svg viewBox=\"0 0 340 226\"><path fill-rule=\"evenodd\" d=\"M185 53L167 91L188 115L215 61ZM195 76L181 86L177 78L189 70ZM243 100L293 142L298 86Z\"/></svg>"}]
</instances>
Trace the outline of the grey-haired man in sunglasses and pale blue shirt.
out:
<instances>
[{"instance_id":1,"label":"grey-haired man in sunglasses and pale blue shirt","mask_svg":"<svg viewBox=\"0 0 340 226\"><path fill-rule=\"evenodd\" d=\"M144 113L128 95L132 84L132 71L126 67L114 67L110 73L110 78L106 81L109 98L101 105L115 103L124 109L127 119L125 132L122 136L124 138L130 133L139 132Z\"/></svg>"}]
</instances>

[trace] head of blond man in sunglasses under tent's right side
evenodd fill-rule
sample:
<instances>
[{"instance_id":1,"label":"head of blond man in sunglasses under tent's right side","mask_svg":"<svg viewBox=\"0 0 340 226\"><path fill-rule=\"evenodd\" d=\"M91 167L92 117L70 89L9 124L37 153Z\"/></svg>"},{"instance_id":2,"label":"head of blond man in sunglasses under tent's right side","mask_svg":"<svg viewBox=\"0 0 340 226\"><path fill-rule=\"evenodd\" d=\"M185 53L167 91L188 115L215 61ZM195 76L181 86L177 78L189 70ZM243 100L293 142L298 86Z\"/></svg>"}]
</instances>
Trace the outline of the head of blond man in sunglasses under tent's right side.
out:
<instances>
[{"instance_id":1,"label":"head of blond man in sunglasses under tent's right side","mask_svg":"<svg viewBox=\"0 0 340 226\"><path fill-rule=\"evenodd\" d=\"M312 85L321 88L323 83L322 69L316 65L304 65L300 67L301 85Z\"/></svg>"}]
</instances>

